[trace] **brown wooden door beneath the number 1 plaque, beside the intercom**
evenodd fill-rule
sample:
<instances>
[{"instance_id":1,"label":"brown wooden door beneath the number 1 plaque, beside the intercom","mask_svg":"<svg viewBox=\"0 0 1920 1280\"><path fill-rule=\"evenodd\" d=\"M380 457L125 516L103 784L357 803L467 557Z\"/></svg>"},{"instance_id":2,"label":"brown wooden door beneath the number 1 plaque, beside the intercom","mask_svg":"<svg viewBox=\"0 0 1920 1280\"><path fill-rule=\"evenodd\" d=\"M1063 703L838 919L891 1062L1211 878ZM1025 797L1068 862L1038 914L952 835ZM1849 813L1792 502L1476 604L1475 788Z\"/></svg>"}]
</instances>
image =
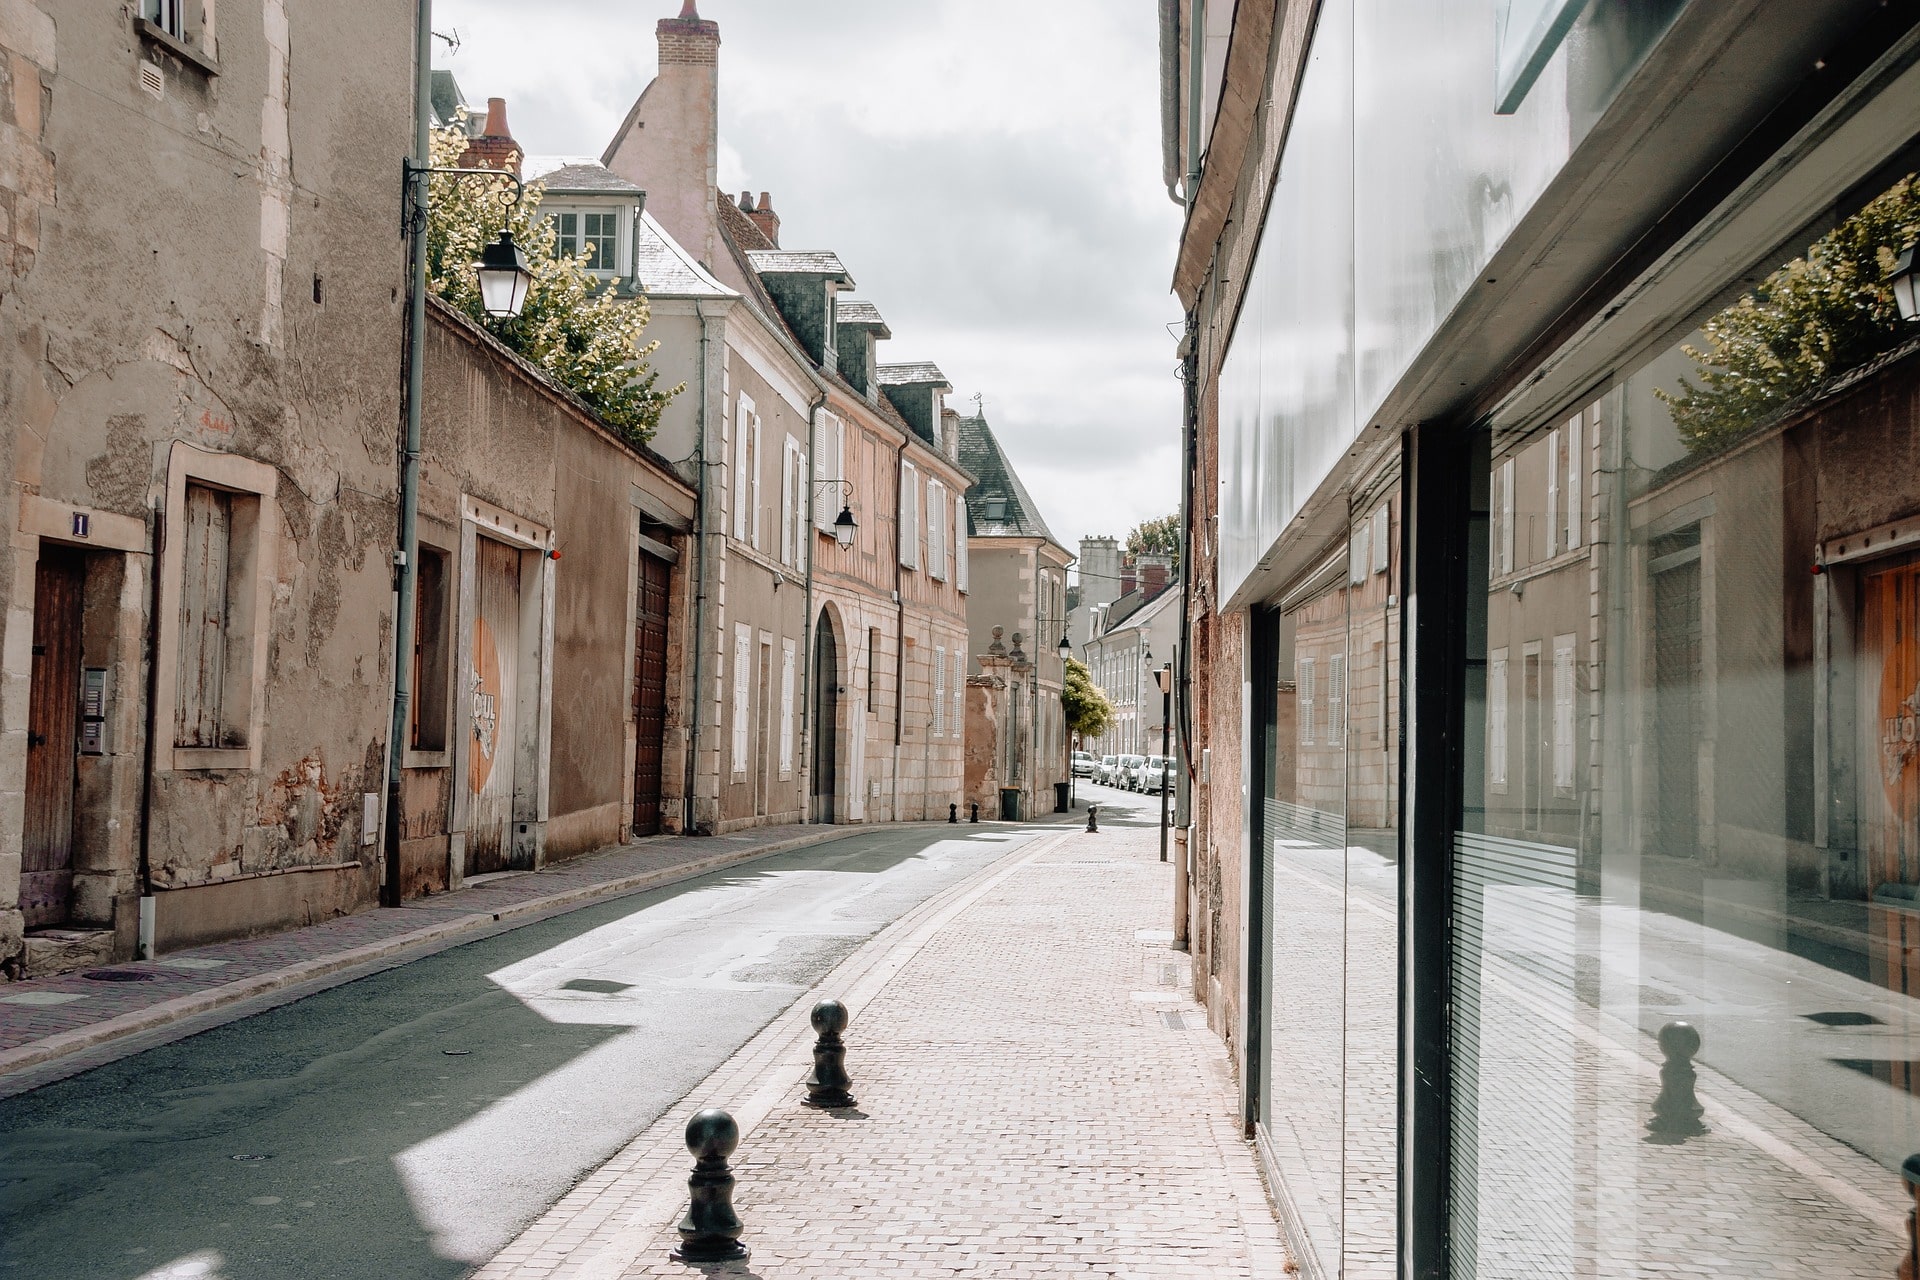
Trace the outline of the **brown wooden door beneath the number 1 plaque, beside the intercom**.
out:
<instances>
[{"instance_id":1,"label":"brown wooden door beneath the number 1 plaque, beside the intercom","mask_svg":"<svg viewBox=\"0 0 1920 1280\"><path fill-rule=\"evenodd\" d=\"M81 718L81 587L86 560L44 547L33 576L27 691L27 814L19 906L27 925L63 925L73 904L73 752Z\"/></svg>"}]
</instances>

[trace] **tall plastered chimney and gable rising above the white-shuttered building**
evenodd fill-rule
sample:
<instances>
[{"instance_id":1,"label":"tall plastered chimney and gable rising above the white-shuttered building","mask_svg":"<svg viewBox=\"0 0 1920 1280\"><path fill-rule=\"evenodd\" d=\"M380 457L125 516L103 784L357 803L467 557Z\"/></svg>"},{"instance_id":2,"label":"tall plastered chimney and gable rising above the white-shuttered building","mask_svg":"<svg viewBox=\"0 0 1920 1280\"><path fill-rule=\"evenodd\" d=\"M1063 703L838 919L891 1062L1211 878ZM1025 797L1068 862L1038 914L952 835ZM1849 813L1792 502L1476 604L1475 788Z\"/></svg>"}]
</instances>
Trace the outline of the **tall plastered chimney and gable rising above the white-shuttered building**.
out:
<instances>
[{"instance_id":1,"label":"tall plastered chimney and gable rising above the white-shuttered building","mask_svg":"<svg viewBox=\"0 0 1920 1280\"><path fill-rule=\"evenodd\" d=\"M687 253L720 253L720 23L685 0L655 25L660 71L628 111L601 161L647 190L647 213Z\"/></svg>"}]
</instances>

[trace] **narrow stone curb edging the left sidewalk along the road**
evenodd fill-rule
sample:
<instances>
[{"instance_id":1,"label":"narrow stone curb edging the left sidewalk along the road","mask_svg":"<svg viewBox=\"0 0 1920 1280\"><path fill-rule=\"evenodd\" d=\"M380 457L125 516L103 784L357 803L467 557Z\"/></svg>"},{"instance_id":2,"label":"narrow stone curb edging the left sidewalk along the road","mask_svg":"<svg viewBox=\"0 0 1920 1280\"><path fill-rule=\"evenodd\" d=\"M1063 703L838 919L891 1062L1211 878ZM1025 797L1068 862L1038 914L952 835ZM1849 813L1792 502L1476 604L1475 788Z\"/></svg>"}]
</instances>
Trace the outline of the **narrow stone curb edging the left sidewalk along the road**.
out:
<instances>
[{"instance_id":1,"label":"narrow stone curb edging the left sidewalk along the road","mask_svg":"<svg viewBox=\"0 0 1920 1280\"><path fill-rule=\"evenodd\" d=\"M106 1021L94 1023L92 1027L79 1027L75 1031L60 1031L33 1044L23 1044L13 1050L0 1052L0 1080L15 1071L25 1071L29 1067L44 1067L50 1061L58 1061L71 1054L83 1050L98 1048L109 1040L119 1040L121 1036L132 1036L144 1031L156 1031L159 1027L169 1027L182 1019L207 1013L211 1009L221 1009L242 1000L252 1000L253 996L265 996L288 986L298 986L301 983L311 983L313 979L326 977L330 973L340 973L342 969L351 969L355 965L369 963L372 960L382 960L394 956L396 952L405 952L409 948L426 942L444 942L447 938L457 938L467 933L478 933L490 929L495 923L516 919L524 915L545 915L545 913L564 913L574 908L588 906L601 898L618 898L630 892L643 892L647 889L659 889L662 885L672 885L676 881L693 879L707 875L708 871L720 871L726 867L755 862L756 858L768 858L772 854L783 854L793 848L808 848L812 844L829 844L833 841L845 841L856 835L868 835L872 831L899 829L899 827L922 827L922 825L947 825L943 823L876 823L872 827L828 827L820 835L801 835L787 841L776 841L772 844L762 844L756 848L728 850L724 854L712 854L710 858L701 858L699 862L685 862L674 867L655 867L653 871L637 871L634 875L622 875L618 879L601 881L599 885L580 885L574 889L563 889L559 892L543 894L540 898L528 898L526 902L515 902L503 906L497 912L472 912L461 915L459 919L445 919L436 925L426 925L422 929L413 929L392 938L382 938L378 942L363 942L351 946L344 952L334 952L332 956L321 956L317 960L301 960L284 969L275 969L271 973L255 973L250 979L240 979L236 983L227 983L223 986L209 986L207 990L198 990L190 996L179 996L175 1000L163 1000L161 1004L148 1006L146 1009L136 1009L132 1013L121 1013L119 1017L109 1017ZM724 839L724 837L716 837ZM538 873L536 873L538 875ZM528 921L532 923L532 921Z\"/></svg>"}]
</instances>

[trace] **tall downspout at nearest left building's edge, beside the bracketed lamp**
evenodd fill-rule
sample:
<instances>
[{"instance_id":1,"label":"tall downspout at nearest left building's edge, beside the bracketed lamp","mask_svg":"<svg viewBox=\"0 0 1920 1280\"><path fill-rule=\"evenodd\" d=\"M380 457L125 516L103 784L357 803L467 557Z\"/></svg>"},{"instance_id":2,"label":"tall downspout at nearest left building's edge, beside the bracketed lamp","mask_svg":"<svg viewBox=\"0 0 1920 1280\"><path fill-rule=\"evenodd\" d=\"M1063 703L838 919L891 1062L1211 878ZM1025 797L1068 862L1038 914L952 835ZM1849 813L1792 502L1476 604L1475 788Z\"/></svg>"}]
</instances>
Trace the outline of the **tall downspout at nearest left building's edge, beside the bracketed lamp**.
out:
<instances>
[{"instance_id":1,"label":"tall downspout at nearest left building's edge, beside the bracketed lamp","mask_svg":"<svg viewBox=\"0 0 1920 1280\"><path fill-rule=\"evenodd\" d=\"M403 209L407 232L407 424L399 447L399 581L394 604L394 723L386 739L386 875L380 900L399 906L399 777L413 710L413 612L420 558L420 395L426 382L426 167L432 165L428 115L434 109L434 0L417 0L413 17L413 173Z\"/></svg>"}]
</instances>

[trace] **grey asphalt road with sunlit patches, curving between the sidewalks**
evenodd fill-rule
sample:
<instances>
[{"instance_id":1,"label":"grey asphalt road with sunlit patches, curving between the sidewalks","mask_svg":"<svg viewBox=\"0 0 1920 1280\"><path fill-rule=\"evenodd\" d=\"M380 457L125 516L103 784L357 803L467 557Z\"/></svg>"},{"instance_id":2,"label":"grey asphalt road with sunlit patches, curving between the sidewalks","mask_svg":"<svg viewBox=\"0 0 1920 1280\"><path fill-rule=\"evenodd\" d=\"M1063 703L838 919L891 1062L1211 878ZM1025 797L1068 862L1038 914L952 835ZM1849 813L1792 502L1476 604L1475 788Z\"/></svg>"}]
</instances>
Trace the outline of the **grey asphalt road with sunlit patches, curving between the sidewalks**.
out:
<instances>
[{"instance_id":1,"label":"grey asphalt road with sunlit patches, curving between the sidewalks","mask_svg":"<svg viewBox=\"0 0 1920 1280\"><path fill-rule=\"evenodd\" d=\"M1037 833L776 854L4 1100L0 1274L465 1276L874 933Z\"/></svg>"}]
</instances>

